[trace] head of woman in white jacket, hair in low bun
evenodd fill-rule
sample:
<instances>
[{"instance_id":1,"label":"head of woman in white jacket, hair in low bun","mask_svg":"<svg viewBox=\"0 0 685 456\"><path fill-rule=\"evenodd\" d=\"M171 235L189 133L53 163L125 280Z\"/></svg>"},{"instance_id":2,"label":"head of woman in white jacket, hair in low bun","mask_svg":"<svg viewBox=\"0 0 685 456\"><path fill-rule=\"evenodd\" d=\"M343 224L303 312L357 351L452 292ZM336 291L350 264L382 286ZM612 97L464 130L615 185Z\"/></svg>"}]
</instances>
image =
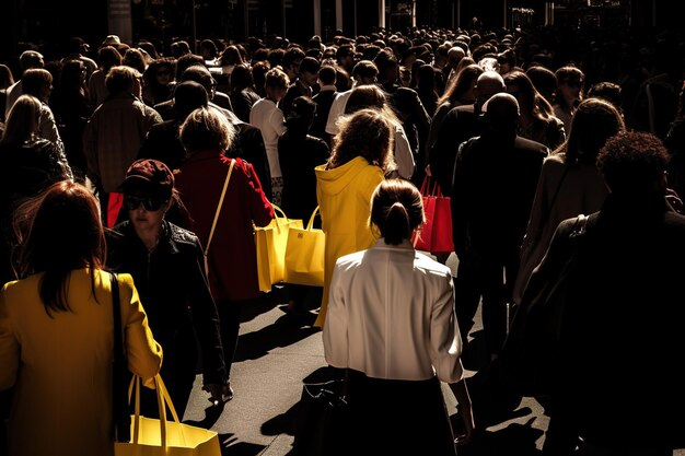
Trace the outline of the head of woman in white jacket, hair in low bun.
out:
<instances>
[{"instance_id":1,"label":"head of woman in white jacket, hair in low bun","mask_svg":"<svg viewBox=\"0 0 685 456\"><path fill-rule=\"evenodd\" d=\"M409 239L426 223L421 192L405 179L385 179L371 196L370 223L378 226L385 244Z\"/></svg>"}]
</instances>

